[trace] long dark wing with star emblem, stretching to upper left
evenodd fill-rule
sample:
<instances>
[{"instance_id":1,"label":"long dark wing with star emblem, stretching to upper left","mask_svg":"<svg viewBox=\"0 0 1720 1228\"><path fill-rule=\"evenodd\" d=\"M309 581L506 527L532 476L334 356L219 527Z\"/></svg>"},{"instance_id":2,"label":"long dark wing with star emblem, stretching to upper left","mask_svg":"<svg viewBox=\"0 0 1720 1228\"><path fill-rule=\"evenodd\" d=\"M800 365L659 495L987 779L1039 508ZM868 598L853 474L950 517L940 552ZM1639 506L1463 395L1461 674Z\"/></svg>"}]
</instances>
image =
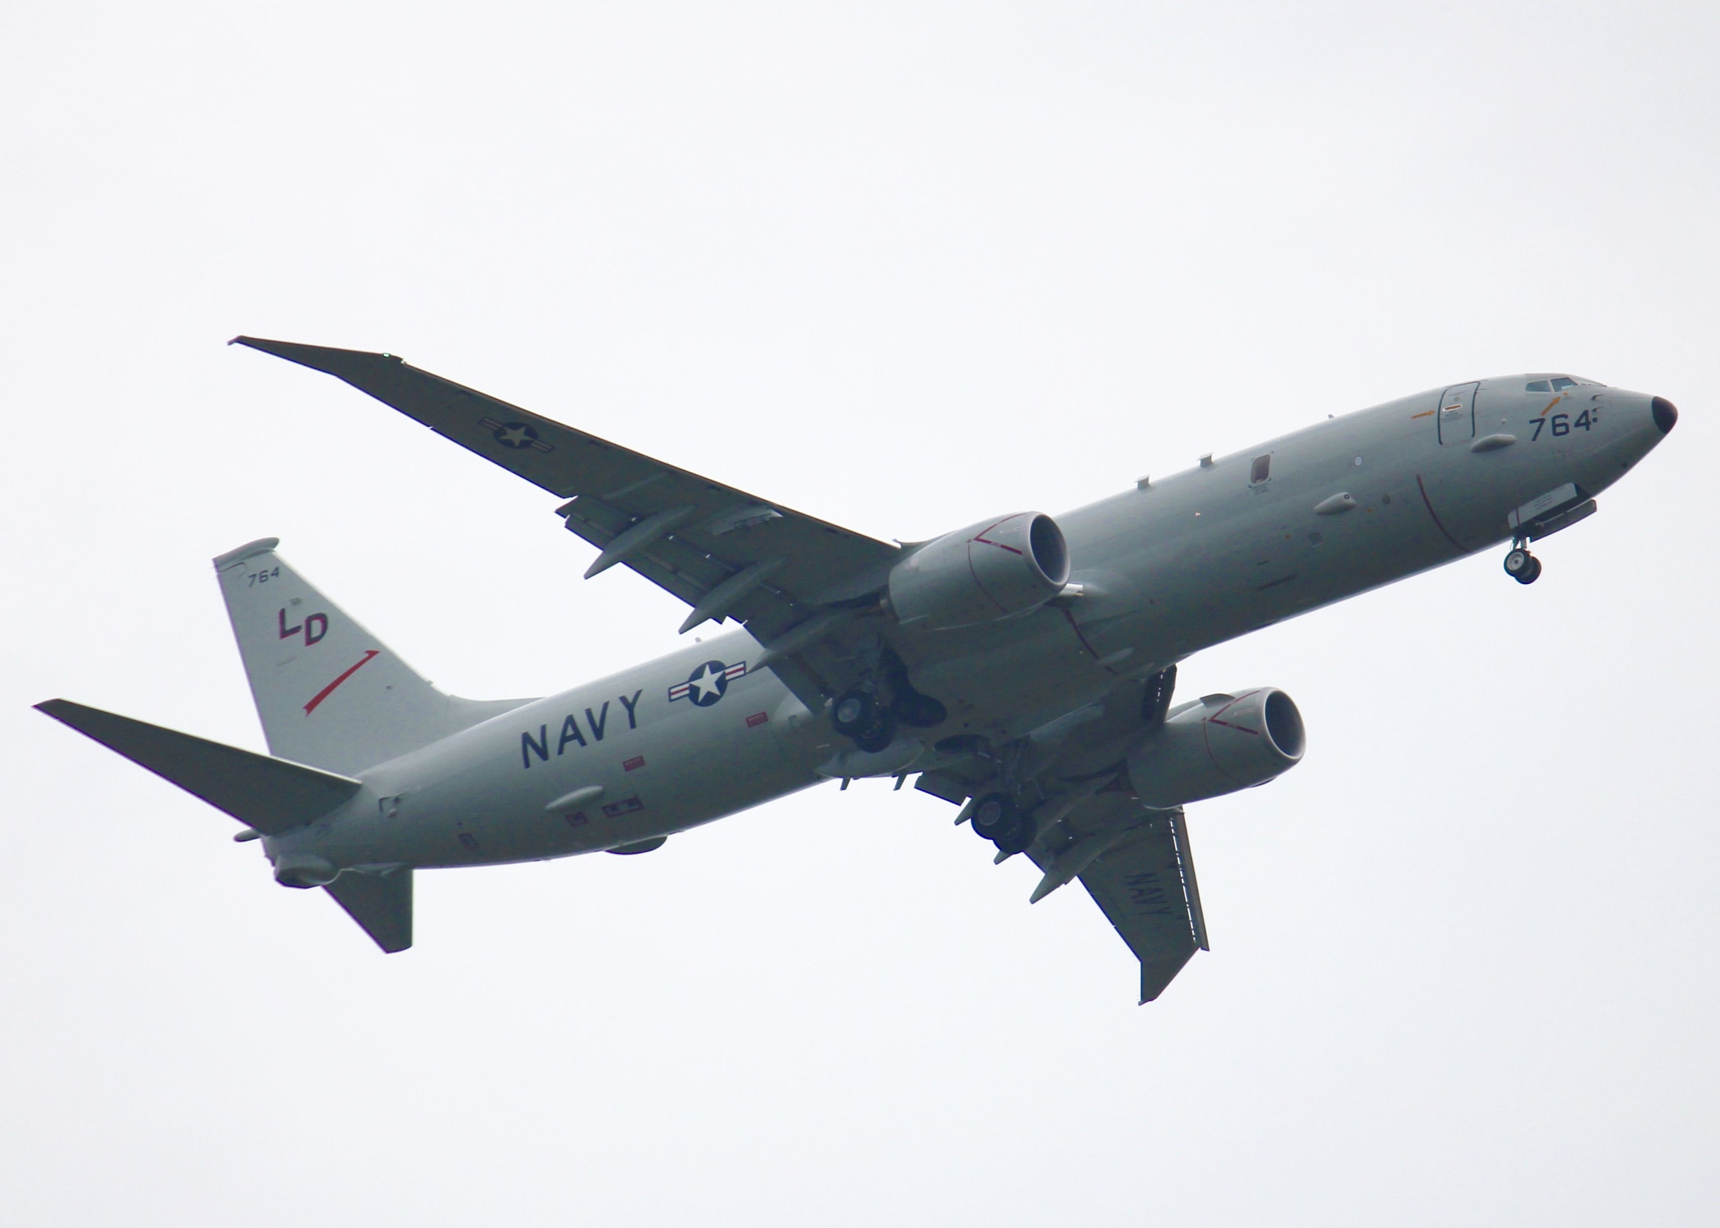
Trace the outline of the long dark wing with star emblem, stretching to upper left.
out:
<instances>
[{"instance_id":1,"label":"long dark wing with star emblem, stretching to upper left","mask_svg":"<svg viewBox=\"0 0 1720 1228\"><path fill-rule=\"evenodd\" d=\"M327 371L568 502L568 530L599 547L597 574L633 568L693 607L683 631L734 617L767 647L820 611L862 602L900 547L654 461L583 430L421 371L394 354L234 337ZM803 647L802 647L803 654ZM802 655L802 664L805 657ZM829 693L779 669L808 705ZM798 685L796 685L798 683Z\"/></svg>"}]
</instances>

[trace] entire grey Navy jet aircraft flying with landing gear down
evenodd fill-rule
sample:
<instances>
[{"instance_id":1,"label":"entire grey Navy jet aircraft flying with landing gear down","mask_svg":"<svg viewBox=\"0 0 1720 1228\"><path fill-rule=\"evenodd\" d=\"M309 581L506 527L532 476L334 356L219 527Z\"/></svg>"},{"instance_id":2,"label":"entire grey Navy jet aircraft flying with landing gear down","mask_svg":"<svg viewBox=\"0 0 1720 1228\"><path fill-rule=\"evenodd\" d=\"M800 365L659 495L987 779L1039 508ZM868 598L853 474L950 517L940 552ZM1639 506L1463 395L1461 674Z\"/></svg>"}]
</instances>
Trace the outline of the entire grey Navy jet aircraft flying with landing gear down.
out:
<instances>
[{"instance_id":1,"label":"entire grey Navy jet aircraft flying with landing gear down","mask_svg":"<svg viewBox=\"0 0 1720 1228\"><path fill-rule=\"evenodd\" d=\"M1175 702L1201 648L1594 513L1677 421L1574 375L1467 380L1333 416L1060 516L931 542L826 525L406 365L236 337L335 375L561 500L597 547L733 629L535 700L435 690L277 540L215 559L270 755L67 700L43 712L227 812L279 882L323 887L384 951L413 872L647 853L824 781L912 776L1032 901L1080 881L1140 960L1140 1001L1207 949L1183 807L1302 758L1297 705Z\"/></svg>"}]
</instances>

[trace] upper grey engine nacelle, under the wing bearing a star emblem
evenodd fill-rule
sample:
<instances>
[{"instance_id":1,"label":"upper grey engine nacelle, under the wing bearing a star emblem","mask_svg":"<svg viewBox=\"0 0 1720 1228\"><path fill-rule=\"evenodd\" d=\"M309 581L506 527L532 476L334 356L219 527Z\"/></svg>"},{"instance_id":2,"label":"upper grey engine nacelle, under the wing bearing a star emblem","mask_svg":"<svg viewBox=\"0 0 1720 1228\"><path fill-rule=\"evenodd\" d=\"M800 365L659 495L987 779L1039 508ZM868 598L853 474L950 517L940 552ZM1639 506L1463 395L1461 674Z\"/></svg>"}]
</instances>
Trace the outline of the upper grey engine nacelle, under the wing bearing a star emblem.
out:
<instances>
[{"instance_id":1,"label":"upper grey engine nacelle, under the wing bearing a star emblem","mask_svg":"<svg viewBox=\"0 0 1720 1228\"><path fill-rule=\"evenodd\" d=\"M1044 513L987 519L927 542L889 573L889 605L927 629L1025 614L1063 592L1070 552Z\"/></svg>"}]
</instances>

